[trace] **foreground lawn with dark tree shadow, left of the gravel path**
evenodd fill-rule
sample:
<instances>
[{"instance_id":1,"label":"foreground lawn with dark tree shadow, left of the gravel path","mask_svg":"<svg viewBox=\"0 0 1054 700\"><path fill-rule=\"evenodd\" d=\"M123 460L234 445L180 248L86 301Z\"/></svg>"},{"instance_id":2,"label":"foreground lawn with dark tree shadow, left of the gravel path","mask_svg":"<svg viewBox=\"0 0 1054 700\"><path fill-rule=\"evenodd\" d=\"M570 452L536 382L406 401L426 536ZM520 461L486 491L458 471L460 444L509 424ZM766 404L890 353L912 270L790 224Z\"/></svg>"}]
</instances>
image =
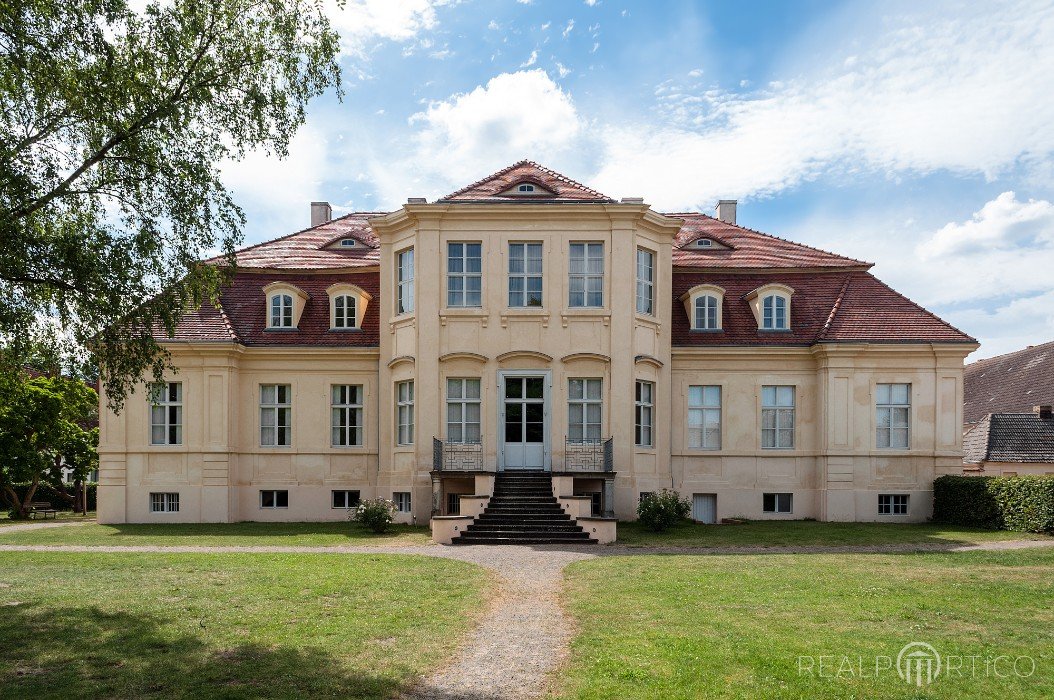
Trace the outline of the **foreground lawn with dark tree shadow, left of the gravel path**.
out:
<instances>
[{"instance_id":1,"label":"foreground lawn with dark tree shadow, left of the gravel path","mask_svg":"<svg viewBox=\"0 0 1054 700\"><path fill-rule=\"evenodd\" d=\"M391 555L0 552L0 698L390 697L486 581Z\"/></svg>"}]
</instances>

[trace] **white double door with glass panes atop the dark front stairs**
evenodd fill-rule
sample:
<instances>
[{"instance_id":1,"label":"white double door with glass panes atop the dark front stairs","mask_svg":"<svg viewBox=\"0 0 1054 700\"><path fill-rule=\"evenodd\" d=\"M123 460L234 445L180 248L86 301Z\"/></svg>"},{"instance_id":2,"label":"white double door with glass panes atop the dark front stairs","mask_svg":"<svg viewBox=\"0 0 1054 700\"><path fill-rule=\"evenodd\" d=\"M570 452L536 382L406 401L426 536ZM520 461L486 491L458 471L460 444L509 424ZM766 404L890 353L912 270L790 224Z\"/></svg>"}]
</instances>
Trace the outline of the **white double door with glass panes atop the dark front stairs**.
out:
<instances>
[{"instance_id":1,"label":"white double door with glass panes atop the dark front stairs","mask_svg":"<svg viewBox=\"0 0 1054 700\"><path fill-rule=\"evenodd\" d=\"M506 375L502 383L502 464L506 469L544 469L546 377Z\"/></svg>"}]
</instances>

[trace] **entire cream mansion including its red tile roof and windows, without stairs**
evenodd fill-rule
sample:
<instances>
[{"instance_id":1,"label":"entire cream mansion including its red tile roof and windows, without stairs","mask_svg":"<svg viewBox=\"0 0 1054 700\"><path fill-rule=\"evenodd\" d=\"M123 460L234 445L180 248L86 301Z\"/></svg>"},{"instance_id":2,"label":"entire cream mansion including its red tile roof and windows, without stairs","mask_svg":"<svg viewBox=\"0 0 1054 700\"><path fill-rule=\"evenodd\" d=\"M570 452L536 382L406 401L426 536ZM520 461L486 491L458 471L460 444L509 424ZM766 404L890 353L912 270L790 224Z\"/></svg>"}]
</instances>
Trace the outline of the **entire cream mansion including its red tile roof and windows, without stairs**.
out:
<instances>
[{"instance_id":1,"label":"entire cream mansion including its red tile roof and windows, without stairs","mask_svg":"<svg viewBox=\"0 0 1054 700\"><path fill-rule=\"evenodd\" d=\"M424 522L521 469L623 519L671 487L701 520L924 520L977 344L735 207L660 214L528 161L391 213L315 202L165 339L178 373L103 413L99 520L385 497Z\"/></svg>"}]
</instances>

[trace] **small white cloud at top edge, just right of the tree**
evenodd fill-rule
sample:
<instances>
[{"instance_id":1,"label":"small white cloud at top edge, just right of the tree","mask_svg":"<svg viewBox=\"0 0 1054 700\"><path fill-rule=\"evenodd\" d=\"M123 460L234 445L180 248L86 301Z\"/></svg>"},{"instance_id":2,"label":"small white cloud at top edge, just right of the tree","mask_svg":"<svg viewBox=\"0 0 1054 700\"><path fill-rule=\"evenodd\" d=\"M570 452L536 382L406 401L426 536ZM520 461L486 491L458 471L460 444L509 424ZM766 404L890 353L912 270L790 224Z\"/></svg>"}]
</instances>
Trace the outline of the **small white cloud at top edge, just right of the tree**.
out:
<instances>
[{"instance_id":1,"label":"small white cloud at top edge, just right of the tree","mask_svg":"<svg viewBox=\"0 0 1054 700\"><path fill-rule=\"evenodd\" d=\"M365 58L374 39L409 41L435 26L436 7L456 0L326 0L333 27L340 34L344 53Z\"/></svg>"}]
</instances>

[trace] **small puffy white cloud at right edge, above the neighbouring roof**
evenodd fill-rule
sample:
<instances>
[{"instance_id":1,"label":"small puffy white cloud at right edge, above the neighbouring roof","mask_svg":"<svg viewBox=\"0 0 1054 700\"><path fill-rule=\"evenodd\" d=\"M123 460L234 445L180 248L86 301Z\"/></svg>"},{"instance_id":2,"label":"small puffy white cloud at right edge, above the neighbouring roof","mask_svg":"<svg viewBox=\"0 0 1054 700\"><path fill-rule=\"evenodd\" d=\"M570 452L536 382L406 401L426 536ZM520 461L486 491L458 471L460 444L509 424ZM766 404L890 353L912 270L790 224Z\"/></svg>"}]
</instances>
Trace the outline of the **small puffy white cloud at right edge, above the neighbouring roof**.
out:
<instances>
[{"instance_id":1,"label":"small puffy white cloud at right edge, above the neighbouring roof","mask_svg":"<svg viewBox=\"0 0 1054 700\"><path fill-rule=\"evenodd\" d=\"M974 212L969 221L951 222L919 246L923 258L948 254L987 253L1013 250L1037 242L1054 242L1054 205L1049 201L1018 201L1013 192L1003 192Z\"/></svg>"}]
</instances>

